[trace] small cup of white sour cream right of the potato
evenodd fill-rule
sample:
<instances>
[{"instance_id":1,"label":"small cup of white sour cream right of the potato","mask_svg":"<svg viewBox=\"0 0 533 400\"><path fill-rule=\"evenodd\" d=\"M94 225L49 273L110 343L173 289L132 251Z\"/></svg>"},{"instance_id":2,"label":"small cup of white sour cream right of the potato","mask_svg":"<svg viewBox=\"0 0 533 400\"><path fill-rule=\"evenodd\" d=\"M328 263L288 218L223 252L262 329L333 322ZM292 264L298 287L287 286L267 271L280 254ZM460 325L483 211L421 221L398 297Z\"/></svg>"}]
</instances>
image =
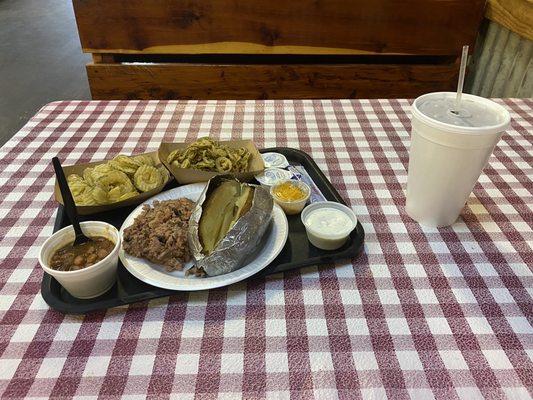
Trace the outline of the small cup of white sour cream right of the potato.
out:
<instances>
[{"instance_id":1,"label":"small cup of white sour cream right of the potato","mask_svg":"<svg viewBox=\"0 0 533 400\"><path fill-rule=\"evenodd\" d=\"M311 244L322 250L335 250L348 240L357 225L351 208L334 201L312 203L302 211L302 222Z\"/></svg>"}]
</instances>

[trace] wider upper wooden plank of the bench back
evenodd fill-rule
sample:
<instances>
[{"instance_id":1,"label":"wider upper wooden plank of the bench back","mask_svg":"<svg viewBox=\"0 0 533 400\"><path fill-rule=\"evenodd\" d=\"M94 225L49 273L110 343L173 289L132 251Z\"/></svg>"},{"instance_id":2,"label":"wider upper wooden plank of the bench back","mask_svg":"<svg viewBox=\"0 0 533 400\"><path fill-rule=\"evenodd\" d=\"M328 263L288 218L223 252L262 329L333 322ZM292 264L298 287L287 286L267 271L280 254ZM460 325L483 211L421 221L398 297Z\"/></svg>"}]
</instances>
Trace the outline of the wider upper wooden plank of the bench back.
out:
<instances>
[{"instance_id":1,"label":"wider upper wooden plank of the bench back","mask_svg":"<svg viewBox=\"0 0 533 400\"><path fill-rule=\"evenodd\" d=\"M450 55L485 0L73 0L82 48L110 53Z\"/></svg>"}]
</instances>

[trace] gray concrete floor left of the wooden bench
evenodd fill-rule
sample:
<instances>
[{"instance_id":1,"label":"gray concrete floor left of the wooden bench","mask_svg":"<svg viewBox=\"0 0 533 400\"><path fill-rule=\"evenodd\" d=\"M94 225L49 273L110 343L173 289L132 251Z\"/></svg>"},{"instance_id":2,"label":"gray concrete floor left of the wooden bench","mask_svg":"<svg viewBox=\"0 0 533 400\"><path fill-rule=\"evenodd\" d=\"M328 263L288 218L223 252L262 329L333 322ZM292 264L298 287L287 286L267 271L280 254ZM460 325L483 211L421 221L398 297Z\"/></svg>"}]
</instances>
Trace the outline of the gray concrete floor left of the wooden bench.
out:
<instances>
[{"instance_id":1,"label":"gray concrete floor left of the wooden bench","mask_svg":"<svg viewBox=\"0 0 533 400\"><path fill-rule=\"evenodd\" d=\"M90 99L70 0L0 0L0 145L43 105Z\"/></svg>"}]
</instances>

